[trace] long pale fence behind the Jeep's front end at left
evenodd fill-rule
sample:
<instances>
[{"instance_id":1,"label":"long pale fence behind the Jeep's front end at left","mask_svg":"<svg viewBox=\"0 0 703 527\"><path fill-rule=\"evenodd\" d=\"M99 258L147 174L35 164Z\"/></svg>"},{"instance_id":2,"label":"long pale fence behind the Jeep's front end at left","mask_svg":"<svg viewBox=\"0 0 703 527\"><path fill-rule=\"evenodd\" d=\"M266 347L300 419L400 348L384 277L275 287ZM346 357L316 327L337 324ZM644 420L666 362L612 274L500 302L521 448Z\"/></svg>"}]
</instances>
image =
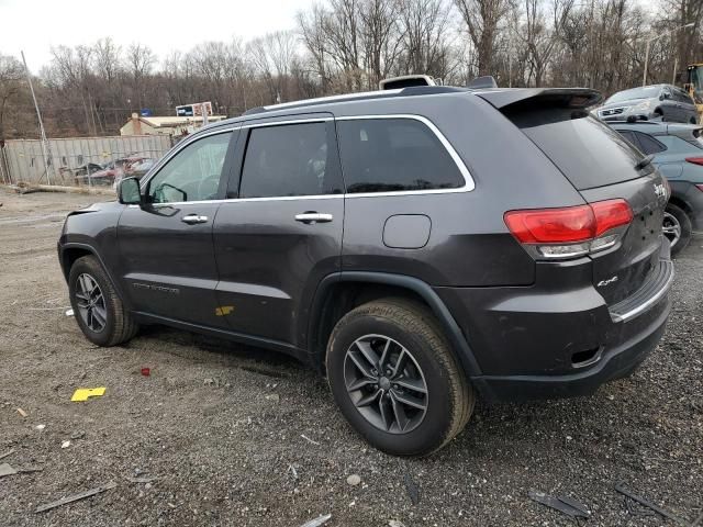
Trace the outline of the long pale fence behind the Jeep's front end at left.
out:
<instances>
[{"instance_id":1,"label":"long pale fence behind the Jeep's front end at left","mask_svg":"<svg viewBox=\"0 0 703 527\"><path fill-rule=\"evenodd\" d=\"M112 187L143 176L168 149L166 135L12 139L0 146L4 183ZM45 162L45 159L48 159Z\"/></svg>"}]
</instances>

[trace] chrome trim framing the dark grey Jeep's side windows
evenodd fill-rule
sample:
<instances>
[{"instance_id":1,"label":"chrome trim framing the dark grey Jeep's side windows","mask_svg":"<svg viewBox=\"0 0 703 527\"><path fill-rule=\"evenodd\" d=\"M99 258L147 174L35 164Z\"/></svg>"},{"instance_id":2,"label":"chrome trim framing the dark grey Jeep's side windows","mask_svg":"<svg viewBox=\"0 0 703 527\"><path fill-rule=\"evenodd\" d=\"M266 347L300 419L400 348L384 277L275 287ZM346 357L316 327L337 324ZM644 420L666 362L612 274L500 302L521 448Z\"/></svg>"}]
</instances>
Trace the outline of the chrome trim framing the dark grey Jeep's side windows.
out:
<instances>
[{"instance_id":1,"label":"chrome trim framing the dark grey Jeep's side windows","mask_svg":"<svg viewBox=\"0 0 703 527\"><path fill-rule=\"evenodd\" d=\"M391 90L389 90L391 91ZM412 113L398 113L398 114L378 114L378 115L343 115L339 117L333 116L320 116L320 117L310 117L310 119L292 119L284 121L269 121L266 123L252 123L252 124L238 124L237 126L212 131L207 134L198 135L192 139L188 141L188 143L183 144L182 147L175 149L167 157L161 159L154 168L153 172L147 173L143 179L144 182L141 182L141 189L146 188L148 181L158 173L160 168L166 165L172 157L175 157L178 153L180 153L183 148L188 147L190 144L194 143L198 139L203 137L208 137L210 135L224 134L227 132L234 132L237 130L246 130L246 128L258 128L264 126L276 126L276 125L284 125L284 124L298 124L298 123L324 123L330 121L361 121L361 120L379 120L379 119L410 119L414 121L419 121L423 123L425 126L429 128L429 131L435 134L439 143L445 147L455 165L459 169L461 177L464 178L464 186L458 187L456 189L428 189L428 190L398 190L398 191L389 191L389 192L359 192L359 193L342 193L342 194L314 194L314 195L277 195L269 198L228 198L222 200L202 200L202 201L178 201L170 203L154 203L153 206L174 206L174 205L188 205L188 204L198 204L198 203L238 203L238 202L249 202L249 201L293 201L293 200L335 200L343 198L380 198L380 197L393 197L393 195L424 195L424 194L453 194L460 192L471 192L476 188L476 183L473 178L471 177L471 172L467 168L466 164L456 152L451 143L446 138L446 136L437 128L437 126L427 117L423 115L412 114ZM180 145L179 145L180 146Z\"/></svg>"}]
</instances>

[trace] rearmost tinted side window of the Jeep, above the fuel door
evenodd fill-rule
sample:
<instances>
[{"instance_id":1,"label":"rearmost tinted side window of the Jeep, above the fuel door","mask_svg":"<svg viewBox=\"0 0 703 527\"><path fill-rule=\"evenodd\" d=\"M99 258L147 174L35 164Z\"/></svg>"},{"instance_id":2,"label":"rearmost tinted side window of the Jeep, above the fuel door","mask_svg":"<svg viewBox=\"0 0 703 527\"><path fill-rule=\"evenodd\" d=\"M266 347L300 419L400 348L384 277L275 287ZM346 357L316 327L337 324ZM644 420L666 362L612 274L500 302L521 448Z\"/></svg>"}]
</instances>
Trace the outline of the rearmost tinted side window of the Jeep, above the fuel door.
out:
<instances>
[{"instance_id":1,"label":"rearmost tinted side window of the Jeep, above the fuel door","mask_svg":"<svg viewBox=\"0 0 703 527\"><path fill-rule=\"evenodd\" d=\"M457 164L435 133L421 121L338 121L337 134L348 193L464 186Z\"/></svg>"}]
</instances>

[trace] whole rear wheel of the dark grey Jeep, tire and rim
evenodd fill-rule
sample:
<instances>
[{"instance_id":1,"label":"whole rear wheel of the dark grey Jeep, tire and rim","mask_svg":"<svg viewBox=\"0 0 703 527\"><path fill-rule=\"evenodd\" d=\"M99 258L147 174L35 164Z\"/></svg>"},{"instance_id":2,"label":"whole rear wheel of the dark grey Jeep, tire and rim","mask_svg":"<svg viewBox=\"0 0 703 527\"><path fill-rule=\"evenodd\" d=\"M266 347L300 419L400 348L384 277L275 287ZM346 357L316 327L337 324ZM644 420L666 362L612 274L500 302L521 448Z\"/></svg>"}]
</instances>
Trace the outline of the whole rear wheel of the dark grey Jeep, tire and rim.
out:
<instances>
[{"instance_id":1,"label":"whole rear wheel of the dark grey Jeep, tire and rim","mask_svg":"<svg viewBox=\"0 0 703 527\"><path fill-rule=\"evenodd\" d=\"M473 391L420 303L386 299L347 313L330 338L326 367L344 416L388 453L438 450L473 411Z\"/></svg>"}]
</instances>

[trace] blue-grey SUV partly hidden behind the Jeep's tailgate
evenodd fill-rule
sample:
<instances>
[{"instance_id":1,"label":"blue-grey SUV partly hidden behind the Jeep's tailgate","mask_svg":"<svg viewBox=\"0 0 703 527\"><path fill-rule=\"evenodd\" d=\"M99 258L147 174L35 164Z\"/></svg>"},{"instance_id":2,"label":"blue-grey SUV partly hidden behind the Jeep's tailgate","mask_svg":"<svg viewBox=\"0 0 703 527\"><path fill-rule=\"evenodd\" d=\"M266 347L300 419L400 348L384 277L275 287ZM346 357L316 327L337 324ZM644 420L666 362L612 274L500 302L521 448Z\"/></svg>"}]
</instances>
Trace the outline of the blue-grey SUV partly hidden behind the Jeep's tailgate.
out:
<instances>
[{"instance_id":1,"label":"blue-grey SUV partly hidden behind the Jeep's tailgate","mask_svg":"<svg viewBox=\"0 0 703 527\"><path fill-rule=\"evenodd\" d=\"M703 228L703 128L693 124L618 123L623 137L646 155L667 178L671 198L663 232L677 255L689 245L694 229Z\"/></svg>"}]
</instances>

